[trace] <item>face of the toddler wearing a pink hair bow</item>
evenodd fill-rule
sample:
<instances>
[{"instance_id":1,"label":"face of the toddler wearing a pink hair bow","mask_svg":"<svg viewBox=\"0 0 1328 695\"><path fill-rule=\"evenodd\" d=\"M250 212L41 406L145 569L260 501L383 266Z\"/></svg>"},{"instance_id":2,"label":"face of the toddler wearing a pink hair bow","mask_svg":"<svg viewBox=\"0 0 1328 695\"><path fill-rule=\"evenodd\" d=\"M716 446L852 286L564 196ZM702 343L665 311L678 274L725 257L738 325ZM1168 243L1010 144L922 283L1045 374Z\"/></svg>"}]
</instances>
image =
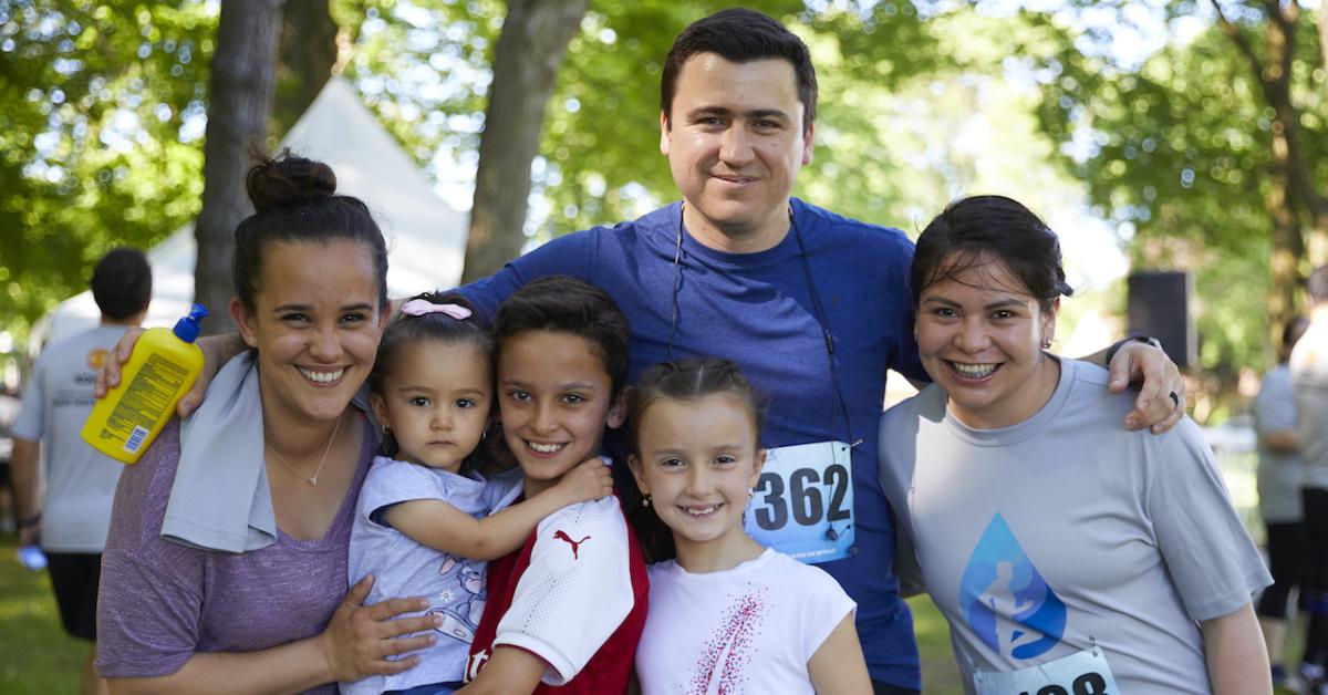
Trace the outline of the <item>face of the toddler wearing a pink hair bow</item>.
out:
<instances>
[{"instance_id":1,"label":"face of the toddler wearing a pink hair bow","mask_svg":"<svg viewBox=\"0 0 1328 695\"><path fill-rule=\"evenodd\" d=\"M392 352L369 403L392 428L396 457L456 473L489 424L489 356L463 340L420 340Z\"/></svg>"}]
</instances>

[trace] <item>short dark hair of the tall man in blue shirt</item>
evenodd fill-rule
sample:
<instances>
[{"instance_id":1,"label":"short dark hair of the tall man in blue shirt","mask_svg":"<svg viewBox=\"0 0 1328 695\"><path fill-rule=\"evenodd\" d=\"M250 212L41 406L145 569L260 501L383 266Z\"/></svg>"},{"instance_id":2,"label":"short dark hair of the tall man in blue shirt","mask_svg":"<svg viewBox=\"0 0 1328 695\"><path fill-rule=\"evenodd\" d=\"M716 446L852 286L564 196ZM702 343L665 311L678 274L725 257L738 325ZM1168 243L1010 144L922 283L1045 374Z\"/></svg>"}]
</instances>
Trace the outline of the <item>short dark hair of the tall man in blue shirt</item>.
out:
<instances>
[{"instance_id":1,"label":"short dark hair of the tall man in blue shirt","mask_svg":"<svg viewBox=\"0 0 1328 695\"><path fill-rule=\"evenodd\" d=\"M677 92L677 77L683 65L697 53L717 53L732 62L752 62L765 58L780 58L793 64L794 78L798 82L798 101L802 102L802 130L806 132L817 120L817 70L811 66L811 53L807 44L778 21L746 8L732 8L716 12L709 17L692 23L673 41L668 57L664 58L664 76L660 80L660 109L664 120L672 126L673 94Z\"/></svg>"}]
</instances>

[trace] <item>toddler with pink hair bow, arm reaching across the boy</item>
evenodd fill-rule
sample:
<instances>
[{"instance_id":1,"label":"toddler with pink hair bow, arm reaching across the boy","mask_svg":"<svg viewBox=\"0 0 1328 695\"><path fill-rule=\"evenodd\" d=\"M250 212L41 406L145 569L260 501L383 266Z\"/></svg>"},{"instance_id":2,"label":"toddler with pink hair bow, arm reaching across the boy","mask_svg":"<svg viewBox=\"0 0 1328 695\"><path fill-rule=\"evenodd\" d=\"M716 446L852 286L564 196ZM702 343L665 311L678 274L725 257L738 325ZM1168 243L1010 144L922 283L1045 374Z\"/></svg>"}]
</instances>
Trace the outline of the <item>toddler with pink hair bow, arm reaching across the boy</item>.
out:
<instances>
[{"instance_id":1,"label":"toddler with pink hair bow, arm reaching across the boy","mask_svg":"<svg viewBox=\"0 0 1328 695\"><path fill-rule=\"evenodd\" d=\"M612 493L608 468L596 457L547 493L507 506L521 478L486 478L491 466L479 448L494 423L490 353L489 330L459 294L406 302L384 332L369 403L382 425L385 456L374 458L360 490L349 581L374 575L368 603L426 597L436 642L418 652L417 666L343 683L343 692L459 688L483 613L486 561L521 547L558 509Z\"/></svg>"}]
</instances>

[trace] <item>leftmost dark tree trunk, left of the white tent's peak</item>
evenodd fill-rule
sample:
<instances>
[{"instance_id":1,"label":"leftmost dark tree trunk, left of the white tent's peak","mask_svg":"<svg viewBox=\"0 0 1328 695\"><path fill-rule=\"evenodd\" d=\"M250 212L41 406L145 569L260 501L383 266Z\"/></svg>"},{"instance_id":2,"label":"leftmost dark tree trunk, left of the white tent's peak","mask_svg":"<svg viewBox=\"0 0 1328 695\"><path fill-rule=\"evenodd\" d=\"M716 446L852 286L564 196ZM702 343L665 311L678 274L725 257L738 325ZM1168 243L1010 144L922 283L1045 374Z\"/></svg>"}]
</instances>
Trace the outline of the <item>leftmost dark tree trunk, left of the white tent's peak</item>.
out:
<instances>
[{"instance_id":1,"label":"leftmost dark tree trunk, left of the white tent's peak","mask_svg":"<svg viewBox=\"0 0 1328 695\"><path fill-rule=\"evenodd\" d=\"M207 334L234 330L226 311L235 294L234 234L235 226L254 211L244 193L250 148L267 149L282 4L283 0L222 3L203 142L203 207L194 222L198 239L194 298L211 311L203 323Z\"/></svg>"}]
</instances>

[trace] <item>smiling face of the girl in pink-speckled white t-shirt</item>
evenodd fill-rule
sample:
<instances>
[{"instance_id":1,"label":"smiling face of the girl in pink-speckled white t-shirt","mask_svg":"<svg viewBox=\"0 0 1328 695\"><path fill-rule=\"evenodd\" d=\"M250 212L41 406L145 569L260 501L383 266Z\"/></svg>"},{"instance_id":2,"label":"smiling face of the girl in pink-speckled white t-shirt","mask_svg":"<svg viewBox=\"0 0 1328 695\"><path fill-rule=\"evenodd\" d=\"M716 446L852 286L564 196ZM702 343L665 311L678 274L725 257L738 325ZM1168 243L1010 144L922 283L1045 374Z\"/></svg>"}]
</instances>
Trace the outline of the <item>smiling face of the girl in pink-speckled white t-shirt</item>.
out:
<instances>
[{"instance_id":1,"label":"smiling face of the girl in pink-speckled white t-shirt","mask_svg":"<svg viewBox=\"0 0 1328 695\"><path fill-rule=\"evenodd\" d=\"M756 423L736 396L660 397L641 412L632 474L669 529L679 562L700 555L732 566L752 542L742 530L748 490L765 465Z\"/></svg>"}]
</instances>

